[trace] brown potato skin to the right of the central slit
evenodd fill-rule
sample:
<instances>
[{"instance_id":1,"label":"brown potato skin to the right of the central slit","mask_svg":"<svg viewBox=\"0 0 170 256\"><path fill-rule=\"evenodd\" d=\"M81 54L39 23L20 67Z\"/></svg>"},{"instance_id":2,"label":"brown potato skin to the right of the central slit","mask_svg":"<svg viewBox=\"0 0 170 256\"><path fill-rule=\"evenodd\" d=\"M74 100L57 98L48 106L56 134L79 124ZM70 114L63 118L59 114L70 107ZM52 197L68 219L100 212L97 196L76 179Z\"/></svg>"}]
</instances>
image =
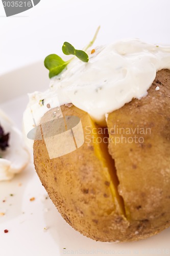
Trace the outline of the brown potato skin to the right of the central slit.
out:
<instances>
[{"instance_id":1,"label":"brown potato skin to the right of the central slit","mask_svg":"<svg viewBox=\"0 0 170 256\"><path fill-rule=\"evenodd\" d=\"M159 91L155 90L157 86ZM152 232L169 226L170 71L157 72L148 96L133 99L109 114L107 124L113 139L109 153L115 159L118 190L124 198L127 216L131 221L142 220ZM119 133L121 127L124 130ZM122 136L124 143L115 143ZM143 139L125 143L134 136Z\"/></svg>"}]
</instances>

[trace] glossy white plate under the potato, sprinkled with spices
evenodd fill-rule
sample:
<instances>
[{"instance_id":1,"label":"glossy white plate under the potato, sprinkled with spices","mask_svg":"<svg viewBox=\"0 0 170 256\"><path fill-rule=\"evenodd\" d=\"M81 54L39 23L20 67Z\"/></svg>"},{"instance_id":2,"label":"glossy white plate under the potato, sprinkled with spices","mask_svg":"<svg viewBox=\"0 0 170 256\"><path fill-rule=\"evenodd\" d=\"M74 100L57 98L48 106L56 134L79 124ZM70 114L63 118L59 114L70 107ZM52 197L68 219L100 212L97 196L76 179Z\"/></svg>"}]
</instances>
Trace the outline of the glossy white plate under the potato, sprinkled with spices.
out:
<instances>
[{"instance_id":1,"label":"glossy white plate under the potato, sprinkled with spices","mask_svg":"<svg viewBox=\"0 0 170 256\"><path fill-rule=\"evenodd\" d=\"M0 108L21 128L27 92L48 87L42 62L0 77ZM10 196L13 194L13 196ZM35 201L30 198L35 197ZM47 198L47 199L46 199ZM6 200L6 202L3 202ZM0 182L0 255L169 255L170 228L155 237L132 243L101 243L82 236L60 216L47 197L31 162L11 182ZM45 229L44 229L45 228ZM8 233L4 230L8 229Z\"/></svg>"}]
</instances>

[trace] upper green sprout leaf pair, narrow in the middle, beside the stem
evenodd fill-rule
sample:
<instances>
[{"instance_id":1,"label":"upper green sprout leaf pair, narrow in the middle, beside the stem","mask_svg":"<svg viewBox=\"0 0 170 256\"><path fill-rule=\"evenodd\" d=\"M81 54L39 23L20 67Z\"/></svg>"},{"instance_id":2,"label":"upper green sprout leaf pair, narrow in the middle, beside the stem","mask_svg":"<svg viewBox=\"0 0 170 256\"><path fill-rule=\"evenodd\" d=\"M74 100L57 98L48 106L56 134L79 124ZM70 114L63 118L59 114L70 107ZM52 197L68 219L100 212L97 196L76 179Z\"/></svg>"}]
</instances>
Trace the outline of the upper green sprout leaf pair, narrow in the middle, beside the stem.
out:
<instances>
[{"instance_id":1,"label":"upper green sprout leaf pair, narrow in the middle, beside the stem","mask_svg":"<svg viewBox=\"0 0 170 256\"><path fill-rule=\"evenodd\" d=\"M69 42L64 42L62 51L66 55L75 55L84 62L88 62L89 60L87 53L82 50L76 50L71 44L69 44Z\"/></svg>"}]
</instances>

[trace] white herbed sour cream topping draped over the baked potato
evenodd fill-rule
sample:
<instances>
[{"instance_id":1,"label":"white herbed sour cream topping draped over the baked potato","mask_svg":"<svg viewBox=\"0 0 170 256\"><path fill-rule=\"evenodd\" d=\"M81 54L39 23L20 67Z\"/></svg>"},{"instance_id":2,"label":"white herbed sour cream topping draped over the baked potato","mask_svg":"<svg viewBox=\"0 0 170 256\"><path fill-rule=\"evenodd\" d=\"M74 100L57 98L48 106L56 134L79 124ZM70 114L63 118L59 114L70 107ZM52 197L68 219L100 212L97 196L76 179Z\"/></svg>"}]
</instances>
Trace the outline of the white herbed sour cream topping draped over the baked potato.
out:
<instances>
[{"instance_id":1,"label":"white herbed sour cream topping draped over the baked potato","mask_svg":"<svg viewBox=\"0 0 170 256\"><path fill-rule=\"evenodd\" d=\"M47 91L29 94L30 102L23 117L26 132L33 128L31 112L38 125L48 111L47 103L51 108L72 103L102 124L107 113L133 98L146 96L157 71L170 69L170 47L127 39L94 49L94 53L88 53L89 62L75 58L67 70L51 79ZM42 99L44 106L37 104Z\"/></svg>"}]
</instances>

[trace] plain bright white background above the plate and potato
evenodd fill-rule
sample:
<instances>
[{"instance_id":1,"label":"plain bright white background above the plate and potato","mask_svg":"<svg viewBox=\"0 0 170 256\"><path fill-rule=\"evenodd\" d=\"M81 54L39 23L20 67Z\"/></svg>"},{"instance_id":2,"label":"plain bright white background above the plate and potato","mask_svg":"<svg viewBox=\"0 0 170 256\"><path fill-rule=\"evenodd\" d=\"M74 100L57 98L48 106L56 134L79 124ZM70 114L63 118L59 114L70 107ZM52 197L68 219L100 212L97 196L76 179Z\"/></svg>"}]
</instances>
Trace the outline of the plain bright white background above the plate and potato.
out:
<instances>
[{"instance_id":1,"label":"plain bright white background above the plate and potato","mask_svg":"<svg viewBox=\"0 0 170 256\"><path fill-rule=\"evenodd\" d=\"M96 28L96 45L138 37L170 45L169 0L41 0L6 17L0 3L0 74L61 53L64 41L83 48Z\"/></svg>"}]
</instances>

